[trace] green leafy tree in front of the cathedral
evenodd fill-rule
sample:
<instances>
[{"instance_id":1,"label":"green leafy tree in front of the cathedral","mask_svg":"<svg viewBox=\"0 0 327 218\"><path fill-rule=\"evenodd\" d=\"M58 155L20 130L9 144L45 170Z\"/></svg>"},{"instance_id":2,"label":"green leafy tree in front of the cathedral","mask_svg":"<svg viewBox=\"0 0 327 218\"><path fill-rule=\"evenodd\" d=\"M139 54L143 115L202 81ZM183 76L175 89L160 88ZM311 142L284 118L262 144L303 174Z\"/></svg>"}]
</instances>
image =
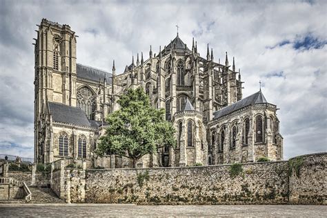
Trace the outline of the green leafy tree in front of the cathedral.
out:
<instances>
[{"instance_id":1,"label":"green leafy tree in front of the cathedral","mask_svg":"<svg viewBox=\"0 0 327 218\"><path fill-rule=\"evenodd\" d=\"M163 146L175 147L175 128L165 120L165 110L155 109L142 88L129 89L117 101L121 108L108 115L108 128L96 153L132 159L133 167L147 154Z\"/></svg>"}]
</instances>

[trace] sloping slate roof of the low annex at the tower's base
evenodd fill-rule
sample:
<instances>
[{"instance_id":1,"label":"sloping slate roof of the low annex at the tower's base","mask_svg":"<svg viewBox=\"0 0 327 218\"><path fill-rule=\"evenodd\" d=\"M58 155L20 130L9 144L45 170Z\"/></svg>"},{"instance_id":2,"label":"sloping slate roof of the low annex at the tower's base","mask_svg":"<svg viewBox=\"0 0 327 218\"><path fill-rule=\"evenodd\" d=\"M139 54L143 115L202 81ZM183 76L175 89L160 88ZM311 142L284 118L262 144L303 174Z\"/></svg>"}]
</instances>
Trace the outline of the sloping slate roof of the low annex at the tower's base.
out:
<instances>
[{"instance_id":1,"label":"sloping slate roof of the low annex at the tower's base","mask_svg":"<svg viewBox=\"0 0 327 218\"><path fill-rule=\"evenodd\" d=\"M91 127L88 118L81 108L55 102L48 102L48 105L53 121Z\"/></svg>"}]
</instances>

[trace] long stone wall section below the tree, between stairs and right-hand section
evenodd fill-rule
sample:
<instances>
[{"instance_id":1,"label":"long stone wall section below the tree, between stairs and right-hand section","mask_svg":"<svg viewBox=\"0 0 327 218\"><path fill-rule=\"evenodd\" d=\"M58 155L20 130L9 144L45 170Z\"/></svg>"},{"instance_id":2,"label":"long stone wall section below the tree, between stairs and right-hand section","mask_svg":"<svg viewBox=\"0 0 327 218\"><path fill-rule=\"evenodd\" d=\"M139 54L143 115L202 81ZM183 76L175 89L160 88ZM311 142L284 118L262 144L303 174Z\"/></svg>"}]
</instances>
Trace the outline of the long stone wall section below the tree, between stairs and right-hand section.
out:
<instances>
[{"instance_id":1,"label":"long stone wall section below the tree, between stairs and right-hand section","mask_svg":"<svg viewBox=\"0 0 327 218\"><path fill-rule=\"evenodd\" d=\"M186 168L88 170L86 203L287 204L287 161ZM235 175L231 175L235 172ZM239 173L237 173L239 172Z\"/></svg>"}]
</instances>

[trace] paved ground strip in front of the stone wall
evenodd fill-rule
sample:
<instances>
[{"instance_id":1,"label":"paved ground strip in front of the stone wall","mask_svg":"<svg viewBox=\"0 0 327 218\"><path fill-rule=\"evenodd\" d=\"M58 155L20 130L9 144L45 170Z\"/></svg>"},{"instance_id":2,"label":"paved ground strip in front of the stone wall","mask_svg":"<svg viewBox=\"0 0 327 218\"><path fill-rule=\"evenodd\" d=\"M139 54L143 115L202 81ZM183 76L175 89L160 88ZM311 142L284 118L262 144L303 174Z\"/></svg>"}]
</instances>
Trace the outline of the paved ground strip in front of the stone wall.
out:
<instances>
[{"instance_id":1,"label":"paved ground strip in front of the stone wall","mask_svg":"<svg viewBox=\"0 0 327 218\"><path fill-rule=\"evenodd\" d=\"M126 204L0 205L0 217L327 217L327 206L135 206Z\"/></svg>"}]
</instances>

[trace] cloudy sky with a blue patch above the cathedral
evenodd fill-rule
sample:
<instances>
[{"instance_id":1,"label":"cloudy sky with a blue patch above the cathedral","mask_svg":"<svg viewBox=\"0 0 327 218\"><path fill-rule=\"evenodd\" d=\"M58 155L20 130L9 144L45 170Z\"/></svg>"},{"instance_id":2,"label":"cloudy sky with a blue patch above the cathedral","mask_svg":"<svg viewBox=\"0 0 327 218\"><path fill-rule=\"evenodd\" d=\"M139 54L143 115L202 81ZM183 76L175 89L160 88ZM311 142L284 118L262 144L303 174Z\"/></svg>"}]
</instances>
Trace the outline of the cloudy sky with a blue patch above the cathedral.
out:
<instances>
[{"instance_id":1,"label":"cloudy sky with a blue patch above the cathedral","mask_svg":"<svg viewBox=\"0 0 327 218\"><path fill-rule=\"evenodd\" d=\"M34 154L34 43L42 18L68 24L77 63L116 72L177 34L241 69L244 97L277 105L284 159L327 150L327 1L0 0L0 154ZM231 63L231 62L230 62Z\"/></svg>"}]
</instances>

